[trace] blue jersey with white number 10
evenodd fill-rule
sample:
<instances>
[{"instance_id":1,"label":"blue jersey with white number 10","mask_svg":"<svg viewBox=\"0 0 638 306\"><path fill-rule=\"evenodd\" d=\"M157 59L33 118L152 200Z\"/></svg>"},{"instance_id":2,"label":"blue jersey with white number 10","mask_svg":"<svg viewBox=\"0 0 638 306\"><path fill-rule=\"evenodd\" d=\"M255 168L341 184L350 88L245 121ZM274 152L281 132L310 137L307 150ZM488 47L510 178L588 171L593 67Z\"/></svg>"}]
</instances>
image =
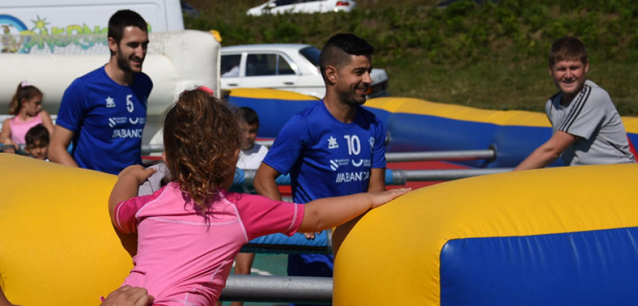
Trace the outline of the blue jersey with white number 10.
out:
<instances>
[{"instance_id":1,"label":"blue jersey with white number 10","mask_svg":"<svg viewBox=\"0 0 638 306\"><path fill-rule=\"evenodd\" d=\"M364 108L342 123L318 101L284 125L264 162L290 173L296 203L346 196L366 192L371 169L386 167L385 140L383 123Z\"/></svg>"}]
</instances>

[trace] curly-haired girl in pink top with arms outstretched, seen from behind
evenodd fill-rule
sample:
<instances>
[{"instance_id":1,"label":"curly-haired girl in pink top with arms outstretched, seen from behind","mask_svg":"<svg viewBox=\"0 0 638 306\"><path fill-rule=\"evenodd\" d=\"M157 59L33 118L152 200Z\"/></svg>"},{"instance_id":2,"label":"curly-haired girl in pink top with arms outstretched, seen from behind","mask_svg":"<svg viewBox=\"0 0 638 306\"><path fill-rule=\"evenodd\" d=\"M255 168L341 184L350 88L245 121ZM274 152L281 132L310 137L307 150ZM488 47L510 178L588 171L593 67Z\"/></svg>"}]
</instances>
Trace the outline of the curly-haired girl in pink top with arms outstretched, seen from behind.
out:
<instances>
[{"instance_id":1,"label":"curly-haired girl in pink top with arms outstretched, seen from behind","mask_svg":"<svg viewBox=\"0 0 638 306\"><path fill-rule=\"evenodd\" d=\"M150 196L138 186L155 169L129 166L108 200L119 232L138 234L135 267L123 285L143 287L153 305L213 305L243 244L281 232L340 225L409 191L324 198L306 205L229 192L240 149L233 111L207 91L182 92L164 119L171 182ZM129 250L132 254L133 250Z\"/></svg>"}]
</instances>

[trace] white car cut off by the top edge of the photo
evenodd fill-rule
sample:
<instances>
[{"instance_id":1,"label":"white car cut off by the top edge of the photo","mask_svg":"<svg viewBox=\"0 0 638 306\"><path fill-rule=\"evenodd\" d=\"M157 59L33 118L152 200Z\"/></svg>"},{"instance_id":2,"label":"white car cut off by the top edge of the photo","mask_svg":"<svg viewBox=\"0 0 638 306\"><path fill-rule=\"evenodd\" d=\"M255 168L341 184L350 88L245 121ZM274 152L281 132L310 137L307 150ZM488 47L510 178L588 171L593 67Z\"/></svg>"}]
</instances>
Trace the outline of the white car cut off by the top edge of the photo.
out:
<instances>
[{"instance_id":1,"label":"white car cut off by the top edge of the photo","mask_svg":"<svg viewBox=\"0 0 638 306\"><path fill-rule=\"evenodd\" d=\"M269 0L250 8L246 13L250 16L277 13L329 13L337 11L349 12L357 6L352 0Z\"/></svg>"}]
</instances>

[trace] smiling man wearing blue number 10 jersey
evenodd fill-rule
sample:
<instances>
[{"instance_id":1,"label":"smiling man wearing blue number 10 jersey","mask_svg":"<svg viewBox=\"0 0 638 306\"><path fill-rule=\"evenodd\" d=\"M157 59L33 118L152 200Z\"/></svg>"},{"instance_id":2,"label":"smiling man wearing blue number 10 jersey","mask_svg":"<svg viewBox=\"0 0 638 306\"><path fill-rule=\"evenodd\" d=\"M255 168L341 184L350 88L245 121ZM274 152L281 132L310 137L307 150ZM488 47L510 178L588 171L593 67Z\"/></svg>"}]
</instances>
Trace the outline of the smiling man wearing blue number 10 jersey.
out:
<instances>
[{"instance_id":1,"label":"smiling man wearing blue number 10 jersey","mask_svg":"<svg viewBox=\"0 0 638 306\"><path fill-rule=\"evenodd\" d=\"M255 174L259 194L281 200L275 183L280 174L290 174L296 203L385 189L386 130L362 108L372 82L373 51L352 34L326 42L320 55L325 97L281 129ZM356 222L335 229L335 253ZM332 276L332 256L290 255L288 269L293 276Z\"/></svg>"}]
</instances>

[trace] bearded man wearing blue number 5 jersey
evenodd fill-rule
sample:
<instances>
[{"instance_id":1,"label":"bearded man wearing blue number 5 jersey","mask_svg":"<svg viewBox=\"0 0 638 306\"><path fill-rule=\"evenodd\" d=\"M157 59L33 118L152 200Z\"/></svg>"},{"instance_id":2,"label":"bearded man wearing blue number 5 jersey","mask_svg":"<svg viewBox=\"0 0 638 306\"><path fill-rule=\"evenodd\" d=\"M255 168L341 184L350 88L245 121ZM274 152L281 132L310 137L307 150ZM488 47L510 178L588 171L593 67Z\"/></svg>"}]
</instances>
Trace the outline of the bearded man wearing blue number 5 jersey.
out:
<instances>
[{"instance_id":1,"label":"bearded man wearing blue number 5 jersey","mask_svg":"<svg viewBox=\"0 0 638 306\"><path fill-rule=\"evenodd\" d=\"M153 86L142 73L147 45L147 24L140 14L122 10L111 16L111 58L75 79L62 96L49 148L52 162L111 174L141 164L146 103Z\"/></svg>"}]
</instances>

